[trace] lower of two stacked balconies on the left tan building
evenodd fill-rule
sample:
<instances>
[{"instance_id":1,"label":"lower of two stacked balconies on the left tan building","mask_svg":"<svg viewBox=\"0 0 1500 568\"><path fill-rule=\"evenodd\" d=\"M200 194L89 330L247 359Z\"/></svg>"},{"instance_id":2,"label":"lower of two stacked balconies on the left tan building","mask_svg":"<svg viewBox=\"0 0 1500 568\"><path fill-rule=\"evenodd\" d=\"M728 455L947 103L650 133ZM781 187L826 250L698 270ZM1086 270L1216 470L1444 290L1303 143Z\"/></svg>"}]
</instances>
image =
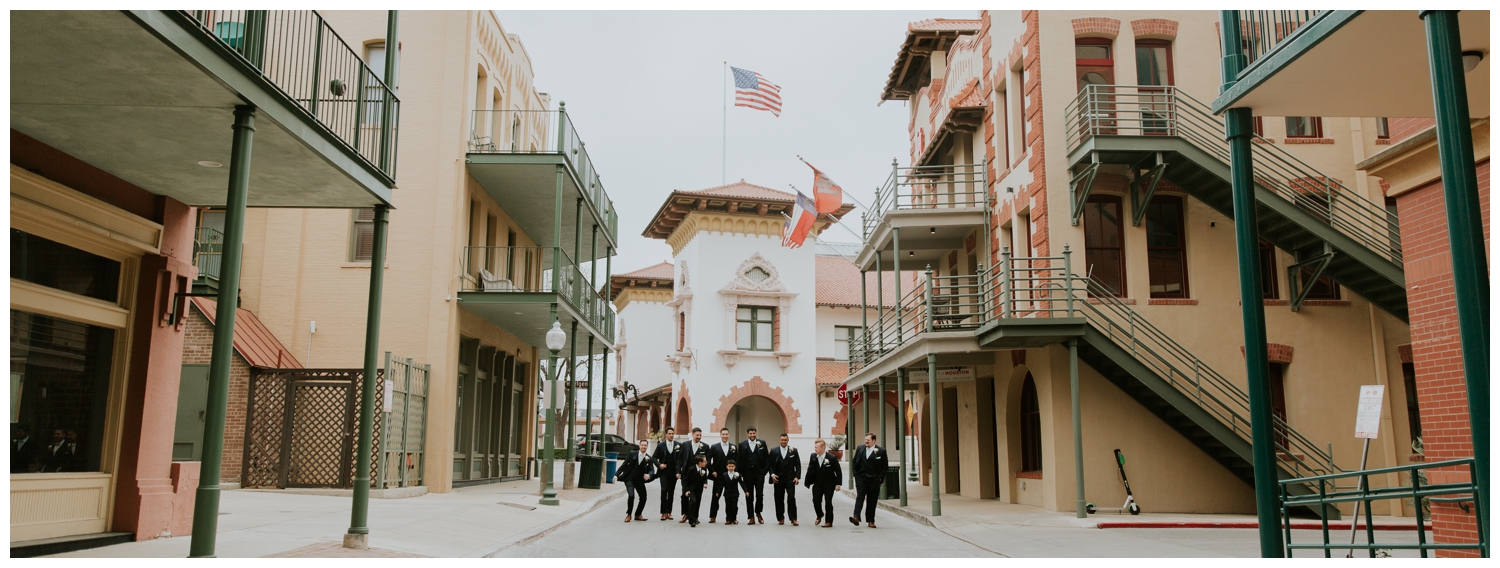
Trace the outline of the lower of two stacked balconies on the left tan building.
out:
<instances>
[{"instance_id":1,"label":"lower of two stacked balconies on the left tan building","mask_svg":"<svg viewBox=\"0 0 1500 568\"><path fill-rule=\"evenodd\" d=\"M558 270L552 270L554 258ZM546 345L552 304L564 330L578 322L598 339L596 352L615 342L615 312L561 247L470 246L462 268L459 304L528 345Z\"/></svg>"}]
</instances>

